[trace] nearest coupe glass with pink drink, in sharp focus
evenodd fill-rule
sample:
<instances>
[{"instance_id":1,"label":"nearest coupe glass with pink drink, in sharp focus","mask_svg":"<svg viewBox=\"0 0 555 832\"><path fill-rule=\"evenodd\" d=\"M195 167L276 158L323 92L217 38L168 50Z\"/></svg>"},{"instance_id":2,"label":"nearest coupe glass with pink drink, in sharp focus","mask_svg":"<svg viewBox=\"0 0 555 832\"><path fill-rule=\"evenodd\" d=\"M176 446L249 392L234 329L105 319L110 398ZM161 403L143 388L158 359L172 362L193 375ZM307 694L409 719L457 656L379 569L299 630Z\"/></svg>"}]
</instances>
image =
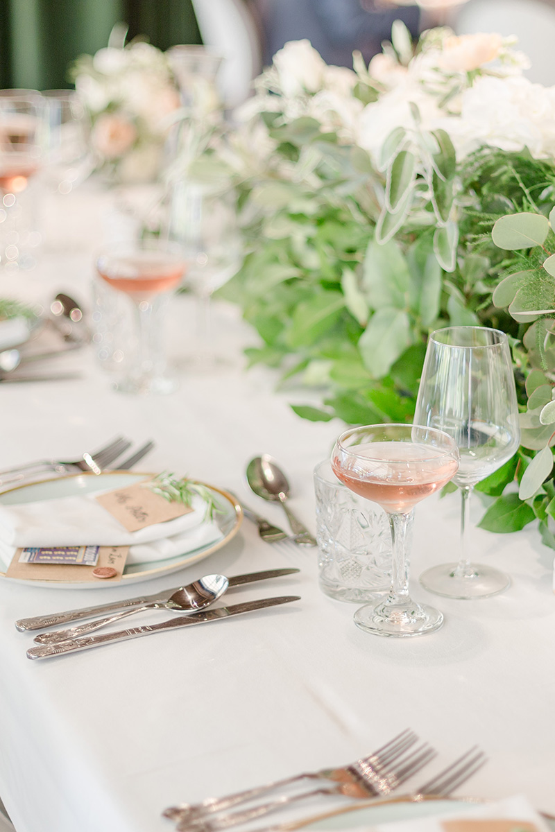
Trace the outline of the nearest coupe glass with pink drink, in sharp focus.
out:
<instances>
[{"instance_id":1,"label":"nearest coupe glass with pink drink, in sharp focus","mask_svg":"<svg viewBox=\"0 0 555 832\"><path fill-rule=\"evenodd\" d=\"M421 636L438 630L439 610L409 596L408 538L414 506L453 477L458 450L443 431L420 425L376 424L351 428L335 443L331 465L347 488L388 515L393 546L391 588L377 603L360 607L354 623L377 636Z\"/></svg>"}]
</instances>

